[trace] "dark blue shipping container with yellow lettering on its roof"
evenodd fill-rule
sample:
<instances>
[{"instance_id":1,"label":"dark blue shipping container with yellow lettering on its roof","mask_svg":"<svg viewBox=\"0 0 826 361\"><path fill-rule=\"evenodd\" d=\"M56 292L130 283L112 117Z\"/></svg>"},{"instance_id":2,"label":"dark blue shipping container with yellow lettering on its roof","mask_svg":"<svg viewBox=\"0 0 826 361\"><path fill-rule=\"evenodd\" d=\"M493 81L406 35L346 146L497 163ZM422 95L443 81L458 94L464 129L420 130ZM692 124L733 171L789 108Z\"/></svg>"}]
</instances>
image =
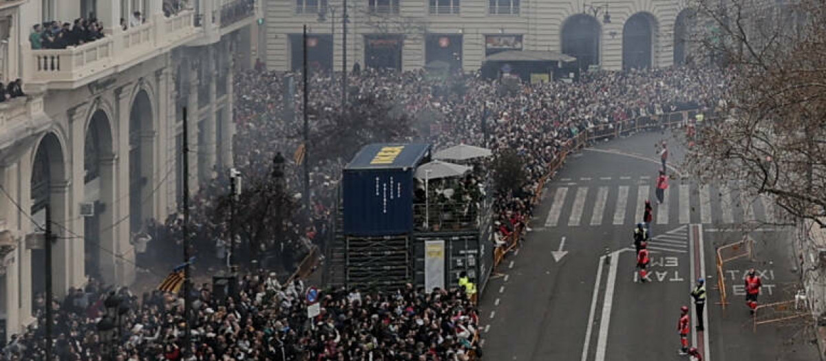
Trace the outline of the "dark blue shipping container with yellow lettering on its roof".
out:
<instances>
[{"instance_id":1,"label":"dark blue shipping container with yellow lettering on its roof","mask_svg":"<svg viewBox=\"0 0 826 361\"><path fill-rule=\"evenodd\" d=\"M430 144L369 144L344 167L344 234L385 236L413 230L415 169Z\"/></svg>"}]
</instances>

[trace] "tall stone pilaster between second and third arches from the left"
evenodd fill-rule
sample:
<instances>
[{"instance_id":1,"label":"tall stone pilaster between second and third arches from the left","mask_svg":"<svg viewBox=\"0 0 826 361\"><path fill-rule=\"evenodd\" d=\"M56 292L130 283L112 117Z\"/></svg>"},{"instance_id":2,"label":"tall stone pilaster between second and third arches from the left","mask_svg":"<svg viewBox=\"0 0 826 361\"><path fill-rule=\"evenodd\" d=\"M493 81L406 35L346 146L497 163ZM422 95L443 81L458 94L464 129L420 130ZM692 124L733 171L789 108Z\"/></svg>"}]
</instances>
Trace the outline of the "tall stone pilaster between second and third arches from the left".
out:
<instances>
[{"instance_id":1,"label":"tall stone pilaster between second and third arches from the left","mask_svg":"<svg viewBox=\"0 0 826 361\"><path fill-rule=\"evenodd\" d=\"M109 222L108 219L101 216L103 229L112 228L108 231L111 232L111 237L107 237L104 235L105 232L101 232L101 241L108 243L111 240L112 242L114 255L109 256L112 256L115 262L116 284L131 284L135 277L135 247L131 244L131 232L137 232L137 230L130 229L131 225L128 219L130 197L140 197L140 194L131 195L129 188L129 123L131 120L131 91L128 91L129 89L131 89L129 84L115 89L117 125L116 129L113 129L115 132L114 138L116 139L116 142L112 144L114 153L111 156L102 157L105 162L109 162L109 157L112 157L111 178L104 176L104 166L101 166L101 200L104 204L107 204L106 212L109 212L107 216L112 217L112 222ZM143 141L142 138L141 141ZM149 148L151 152L151 143ZM107 190L104 186L107 182L111 184L112 190ZM151 185L149 186L151 187Z\"/></svg>"}]
</instances>

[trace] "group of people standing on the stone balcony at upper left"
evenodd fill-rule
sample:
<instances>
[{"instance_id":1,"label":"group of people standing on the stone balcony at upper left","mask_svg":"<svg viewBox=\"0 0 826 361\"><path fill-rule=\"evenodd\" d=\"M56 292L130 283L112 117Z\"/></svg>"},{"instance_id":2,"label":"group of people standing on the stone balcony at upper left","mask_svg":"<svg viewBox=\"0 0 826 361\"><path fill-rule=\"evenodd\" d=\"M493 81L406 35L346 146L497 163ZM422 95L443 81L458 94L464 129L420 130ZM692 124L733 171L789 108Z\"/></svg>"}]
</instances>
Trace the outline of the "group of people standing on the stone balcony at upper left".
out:
<instances>
[{"instance_id":1,"label":"group of people standing on the stone balcony at upper left","mask_svg":"<svg viewBox=\"0 0 826 361\"><path fill-rule=\"evenodd\" d=\"M35 24L31 27L29 43L31 49L66 49L103 38L103 25L97 19L78 17L74 25L58 21Z\"/></svg>"}]
</instances>

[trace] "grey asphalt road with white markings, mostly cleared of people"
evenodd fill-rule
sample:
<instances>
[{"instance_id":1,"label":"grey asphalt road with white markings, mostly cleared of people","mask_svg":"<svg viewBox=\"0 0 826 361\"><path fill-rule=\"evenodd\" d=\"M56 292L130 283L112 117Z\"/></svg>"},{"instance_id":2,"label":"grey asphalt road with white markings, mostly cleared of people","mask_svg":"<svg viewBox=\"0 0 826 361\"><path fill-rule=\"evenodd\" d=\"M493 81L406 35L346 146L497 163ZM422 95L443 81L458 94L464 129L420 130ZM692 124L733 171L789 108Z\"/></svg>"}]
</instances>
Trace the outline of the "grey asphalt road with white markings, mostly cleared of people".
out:
<instances>
[{"instance_id":1,"label":"grey asphalt road with white markings, mostly cleared of people","mask_svg":"<svg viewBox=\"0 0 826 361\"><path fill-rule=\"evenodd\" d=\"M491 280L482 296L484 359L686 359L676 353L676 322L682 305L693 314L689 293L700 276L708 279L708 323L705 333L692 332L690 342L706 359L816 357L798 320L766 323L752 331L741 294L743 270L754 267L770 285L761 302L793 299L790 231L752 226L757 228L749 233L755 240L752 259L724 265L729 304L725 311L718 304L716 247L741 240L744 221L774 220L771 202L741 196L736 182L700 187L677 179L665 202L657 205L655 144L663 139L669 143L672 172L678 171L684 152L670 134L659 132L599 143L568 158L544 191L525 244L506 258L497 270L501 276ZM629 246L645 199L653 200L654 221L651 282L643 284L636 282ZM555 260L554 252L561 259ZM767 309L760 315L769 320L790 312ZM695 325L692 318L692 330Z\"/></svg>"}]
</instances>

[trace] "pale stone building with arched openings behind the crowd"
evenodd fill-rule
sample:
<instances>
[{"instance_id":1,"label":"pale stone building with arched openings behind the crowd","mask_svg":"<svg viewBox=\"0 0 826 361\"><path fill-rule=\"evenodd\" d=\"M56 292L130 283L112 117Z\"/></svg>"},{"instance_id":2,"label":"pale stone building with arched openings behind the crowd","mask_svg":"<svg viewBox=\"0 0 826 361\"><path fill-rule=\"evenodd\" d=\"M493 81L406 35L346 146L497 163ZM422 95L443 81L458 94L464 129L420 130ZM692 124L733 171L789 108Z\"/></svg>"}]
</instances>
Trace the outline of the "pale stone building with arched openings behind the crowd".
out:
<instances>
[{"instance_id":1,"label":"pale stone building with arched openings behind the crowd","mask_svg":"<svg viewBox=\"0 0 826 361\"><path fill-rule=\"evenodd\" d=\"M348 68L411 70L434 60L480 68L506 49L555 51L579 66L666 67L682 62L679 39L689 11L681 0L348 0ZM340 71L343 0L264 0L268 68L301 66L307 25L308 61ZM330 36L330 34L333 34ZM675 36L677 34L677 36ZM332 41L331 41L332 40Z\"/></svg>"}]
</instances>

